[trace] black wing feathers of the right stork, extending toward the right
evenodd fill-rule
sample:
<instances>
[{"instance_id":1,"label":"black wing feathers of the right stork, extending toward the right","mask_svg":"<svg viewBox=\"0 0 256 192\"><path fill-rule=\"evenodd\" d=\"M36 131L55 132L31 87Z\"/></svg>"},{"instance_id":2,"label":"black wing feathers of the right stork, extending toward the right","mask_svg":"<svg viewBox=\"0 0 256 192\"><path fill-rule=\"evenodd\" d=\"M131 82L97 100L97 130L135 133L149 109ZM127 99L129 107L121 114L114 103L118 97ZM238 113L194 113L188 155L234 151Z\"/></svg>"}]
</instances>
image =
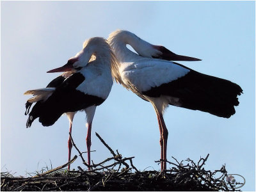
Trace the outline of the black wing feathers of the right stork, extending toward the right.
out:
<instances>
[{"instance_id":1,"label":"black wing feathers of the right stork, extending toward the right","mask_svg":"<svg viewBox=\"0 0 256 192\"><path fill-rule=\"evenodd\" d=\"M179 63L175 64L180 65ZM180 66L184 67L183 65ZM207 76L188 69L190 72L185 76L154 87L143 94L149 97L159 97L160 95L175 97L178 99L177 104L170 104L205 111L225 118L236 113L234 106L239 104L237 95L243 93L239 85L226 79Z\"/></svg>"}]
</instances>

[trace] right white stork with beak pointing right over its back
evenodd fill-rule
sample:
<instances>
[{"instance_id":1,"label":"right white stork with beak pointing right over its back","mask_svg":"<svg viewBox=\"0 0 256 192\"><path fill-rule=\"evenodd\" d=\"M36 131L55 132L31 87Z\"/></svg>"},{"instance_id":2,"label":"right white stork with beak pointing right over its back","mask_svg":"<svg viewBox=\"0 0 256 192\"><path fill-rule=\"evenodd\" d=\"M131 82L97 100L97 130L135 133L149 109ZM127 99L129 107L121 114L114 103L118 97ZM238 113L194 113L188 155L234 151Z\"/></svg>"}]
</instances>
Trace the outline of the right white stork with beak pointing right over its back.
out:
<instances>
[{"instance_id":1,"label":"right white stork with beak pointing right over its back","mask_svg":"<svg viewBox=\"0 0 256 192\"><path fill-rule=\"evenodd\" d=\"M161 170L166 170L168 131L163 113L168 105L229 118L236 113L240 86L207 76L173 61L200 61L152 45L129 31L117 30L108 42L119 62L120 83L153 105L160 130ZM138 53L130 51L129 44ZM166 61L168 60L168 61Z\"/></svg>"}]
</instances>

